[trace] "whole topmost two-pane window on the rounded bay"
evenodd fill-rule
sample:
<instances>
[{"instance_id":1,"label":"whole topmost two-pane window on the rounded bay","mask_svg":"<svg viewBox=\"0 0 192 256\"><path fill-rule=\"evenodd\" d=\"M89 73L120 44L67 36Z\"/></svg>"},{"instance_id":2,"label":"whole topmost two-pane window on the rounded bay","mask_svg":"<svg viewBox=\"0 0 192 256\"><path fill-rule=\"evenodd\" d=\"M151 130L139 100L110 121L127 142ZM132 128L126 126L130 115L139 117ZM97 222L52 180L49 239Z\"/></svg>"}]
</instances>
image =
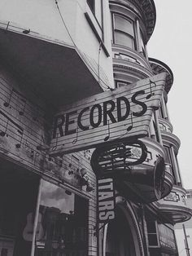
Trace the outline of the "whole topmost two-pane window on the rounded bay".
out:
<instances>
[{"instance_id":1,"label":"whole topmost two-pane window on the rounded bay","mask_svg":"<svg viewBox=\"0 0 192 256\"><path fill-rule=\"evenodd\" d=\"M114 42L122 46L135 49L134 30L132 20L121 15L114 15Z\"/></svg>"}]
</instances>

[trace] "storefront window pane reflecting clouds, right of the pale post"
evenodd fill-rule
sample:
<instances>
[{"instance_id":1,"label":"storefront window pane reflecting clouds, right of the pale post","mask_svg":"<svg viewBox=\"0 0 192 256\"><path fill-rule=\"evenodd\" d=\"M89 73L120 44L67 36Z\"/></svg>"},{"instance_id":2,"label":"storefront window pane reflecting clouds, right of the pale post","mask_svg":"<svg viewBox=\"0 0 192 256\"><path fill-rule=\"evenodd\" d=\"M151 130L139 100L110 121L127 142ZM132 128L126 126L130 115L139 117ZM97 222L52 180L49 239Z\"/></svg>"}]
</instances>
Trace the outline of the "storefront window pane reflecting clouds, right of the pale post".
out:
<instances>
[{"instance_id":1,"label":"storefront window pane reflecting clouds, right of the pale post","mask_svg":"<svg viewBox=\"0 0 192 256\"><path fill-rule=\"evenodd\" d=\"M42 181L36 256L87 255L88 201Z\"/></svg>"}]
</instances>

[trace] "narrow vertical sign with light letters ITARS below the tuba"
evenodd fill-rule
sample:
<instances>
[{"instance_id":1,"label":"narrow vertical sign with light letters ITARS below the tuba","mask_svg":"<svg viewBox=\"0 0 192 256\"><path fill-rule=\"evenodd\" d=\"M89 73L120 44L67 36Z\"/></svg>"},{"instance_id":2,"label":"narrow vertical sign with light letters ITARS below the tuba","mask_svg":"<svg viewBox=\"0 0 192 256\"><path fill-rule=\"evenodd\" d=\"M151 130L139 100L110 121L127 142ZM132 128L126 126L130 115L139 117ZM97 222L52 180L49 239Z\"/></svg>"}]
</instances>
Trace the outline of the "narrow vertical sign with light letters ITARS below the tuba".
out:
<instances>
[{"instance_id":1,"label":"narrow vertical sign with light letters ITARS below the tuba","mask_svg":"<svg viewBox=\"0 0 192 256\"><path fill-rule=\"evenodd\" d=\"M98 223L107 223L115 218L115 192L113 179L97 179Z\"/></svg>"}]
</instances>

